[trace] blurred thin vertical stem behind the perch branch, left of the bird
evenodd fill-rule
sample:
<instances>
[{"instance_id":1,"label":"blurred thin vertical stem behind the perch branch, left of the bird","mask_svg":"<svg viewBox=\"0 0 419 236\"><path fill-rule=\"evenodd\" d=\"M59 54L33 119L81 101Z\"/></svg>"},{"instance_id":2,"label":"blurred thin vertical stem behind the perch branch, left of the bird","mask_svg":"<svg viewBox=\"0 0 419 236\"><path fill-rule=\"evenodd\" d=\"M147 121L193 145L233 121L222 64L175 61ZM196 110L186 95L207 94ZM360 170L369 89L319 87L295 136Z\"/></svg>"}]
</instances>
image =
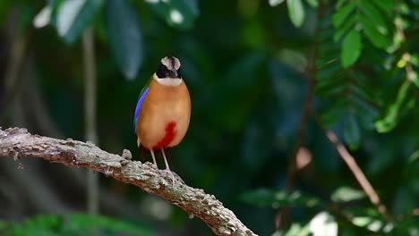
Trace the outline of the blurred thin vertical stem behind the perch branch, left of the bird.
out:
<instances>
[{"instance_id":1,"label":"blurred thin vertical stem behind the perch branch, left of the bird","mask_svg":"<svg viewBox=\"0 0 419 236\"><path fill-rule=\"evenodd\" d=\"M84 57L84 121L86 139L98 143L96 129L96 66L95 66L95 45L93 29L90 27L83 34L83 57ZM98 174L87 172L87 206L91 215L98 214Z\"/></svg>"}]
</instances>

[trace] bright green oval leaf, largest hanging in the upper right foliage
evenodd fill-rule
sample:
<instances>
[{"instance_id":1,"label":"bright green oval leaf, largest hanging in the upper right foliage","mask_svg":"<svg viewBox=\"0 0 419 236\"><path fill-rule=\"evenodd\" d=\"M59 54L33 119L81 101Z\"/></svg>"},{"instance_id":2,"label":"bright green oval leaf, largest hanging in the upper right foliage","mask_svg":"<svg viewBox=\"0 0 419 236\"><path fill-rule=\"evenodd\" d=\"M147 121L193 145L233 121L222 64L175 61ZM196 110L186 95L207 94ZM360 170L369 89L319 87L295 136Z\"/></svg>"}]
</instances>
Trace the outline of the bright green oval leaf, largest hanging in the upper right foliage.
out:
<instances>
[{"instance_id":1,"label":"bright green oval leaf, largest hanging in the upper right foliage","mask_svg":"<svg viewBox=\"0 0 419 236\"><path fill-rule=\"evenodd\" d=\"M342 42L342 53L340 55L342 66L347 68L355 63L361 55L362 48L361 35L355 29L351 30Z\"/></svg>"}]
</instances>

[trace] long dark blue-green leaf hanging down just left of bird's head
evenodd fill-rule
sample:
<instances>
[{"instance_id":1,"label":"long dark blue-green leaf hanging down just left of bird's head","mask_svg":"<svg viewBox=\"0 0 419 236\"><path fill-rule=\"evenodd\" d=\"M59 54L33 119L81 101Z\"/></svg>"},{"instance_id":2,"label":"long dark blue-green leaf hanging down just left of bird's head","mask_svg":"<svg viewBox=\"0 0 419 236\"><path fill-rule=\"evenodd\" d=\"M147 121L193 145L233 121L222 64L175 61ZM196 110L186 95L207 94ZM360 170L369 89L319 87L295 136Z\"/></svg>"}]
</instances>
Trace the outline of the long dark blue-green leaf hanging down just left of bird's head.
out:
<instances>
[{"instance_id":1,"label":"long dark blue-green leaf hanging down just left of bird's head","mask_svg":"<svg viewBox=\"0 0 419 236\"><path fill-rule=\"evenodd\" d=\"M106 27L109 46L124 76L133 80L142 63L140 20L128 0L107 0Z\"/></svg>"}]
</instances>

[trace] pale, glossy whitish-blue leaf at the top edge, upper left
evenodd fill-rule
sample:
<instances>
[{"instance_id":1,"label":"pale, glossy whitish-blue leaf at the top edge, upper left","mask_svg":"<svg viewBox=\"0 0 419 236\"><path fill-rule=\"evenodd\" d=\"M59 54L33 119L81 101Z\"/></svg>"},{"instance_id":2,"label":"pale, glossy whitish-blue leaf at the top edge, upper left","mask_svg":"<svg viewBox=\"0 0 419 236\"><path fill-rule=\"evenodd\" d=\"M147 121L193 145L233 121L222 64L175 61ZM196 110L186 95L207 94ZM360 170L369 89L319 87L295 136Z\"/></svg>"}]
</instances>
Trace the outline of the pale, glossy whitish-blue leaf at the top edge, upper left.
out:
<instances>
[{"instance_id":1,"label":"pale, glossy whitish-blue leaf at the top edge, upper left","mask_svg":"<svg viewBox=\"0 0 419 236\"><path fill-rule=\"evenodd\" d=\"M72 0L58 5L56 30L67 43L74 43L95 18L103 0Z\"/></svg>"}]
</instances>

